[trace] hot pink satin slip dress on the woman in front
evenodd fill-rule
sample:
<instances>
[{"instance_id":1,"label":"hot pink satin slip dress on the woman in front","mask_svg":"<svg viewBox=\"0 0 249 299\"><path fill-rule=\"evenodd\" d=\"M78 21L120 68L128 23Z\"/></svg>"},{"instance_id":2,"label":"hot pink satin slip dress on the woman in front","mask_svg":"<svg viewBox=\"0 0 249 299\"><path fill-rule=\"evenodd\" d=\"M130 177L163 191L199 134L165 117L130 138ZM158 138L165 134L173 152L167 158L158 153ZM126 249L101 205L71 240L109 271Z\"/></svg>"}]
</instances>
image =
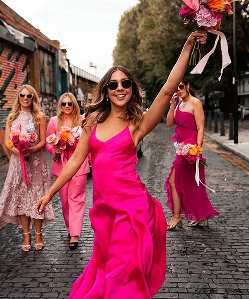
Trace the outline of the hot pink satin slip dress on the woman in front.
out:
<instances>
[{"instance_id":1,"label":"hot pink satin slip dress on the woman in front","mask_svg":"<svg viewBox=\"0 0 249 299\"><path fill-rule=\"evenodd\" d=\"M93 253L69 299L151 299L164 283L166 220L135 170L129 128L89 141L93 166Z\"/></svg>"}]
</instances>

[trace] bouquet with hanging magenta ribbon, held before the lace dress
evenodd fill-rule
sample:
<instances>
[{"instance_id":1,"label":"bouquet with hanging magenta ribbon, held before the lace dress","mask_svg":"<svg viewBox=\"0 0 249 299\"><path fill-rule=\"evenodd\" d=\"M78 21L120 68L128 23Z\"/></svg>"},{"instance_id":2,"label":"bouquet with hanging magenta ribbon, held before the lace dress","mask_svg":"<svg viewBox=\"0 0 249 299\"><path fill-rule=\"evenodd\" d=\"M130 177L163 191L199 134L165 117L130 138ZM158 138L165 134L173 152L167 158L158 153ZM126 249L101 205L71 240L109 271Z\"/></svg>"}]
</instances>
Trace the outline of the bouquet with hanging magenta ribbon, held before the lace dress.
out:
<instances>
[{"instance_id":1,"label":"bouquet with hanging magenta ribbon, held before the lace dress","mask_svg":"<svg viewBox=\"0 0 249 299\"><path fill-rule=\"evenodd\" d=\"M21 171L26 187L28 187L28 177L23 153L30 148L31 143L35 142L37 138L38 135L35 132L33 123L25 125L22 122L17 122L11 127L10 139L8 140L8 148L16 148L19 150Z\"/></svg>"}]
</instances>

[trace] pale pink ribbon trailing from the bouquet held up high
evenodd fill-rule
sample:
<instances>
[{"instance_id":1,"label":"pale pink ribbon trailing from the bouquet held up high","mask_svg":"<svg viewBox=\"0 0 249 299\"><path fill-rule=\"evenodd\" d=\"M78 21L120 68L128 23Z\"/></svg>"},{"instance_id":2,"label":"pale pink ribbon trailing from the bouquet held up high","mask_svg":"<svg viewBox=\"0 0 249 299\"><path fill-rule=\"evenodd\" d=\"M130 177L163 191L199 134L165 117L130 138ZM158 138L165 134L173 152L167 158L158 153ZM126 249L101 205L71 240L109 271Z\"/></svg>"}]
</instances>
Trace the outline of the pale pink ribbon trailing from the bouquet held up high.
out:
<instances>
[{"instance_id":1,"label":"pale pink ribbon trailing from the bouquet held up high","mask_svg":"<svg viewBox=\"0 0 249 299\"><path fill-rule=\"evenodd\" d=\"M229 52L228 52L228 42L227 42L225 34L222 33L221 31L217 31L213 28L208 29L207 31L217 35L215 43L214 43L214 47L212 48L212 50L210 50L208 52L208 54L206 54L198 62L198 64L193 68L193 70L190 72L190 74L201 74L202 73L202 71L204 70L204 68L208 62L209 57L214 53L216 46L218 44L218 41L221 38L222 67L221 67L221 75L218 78L218 80L221 81L223 70L225 69L225 67L227 67L231 63L231 58L230 58Z\"/></svg>"}]
</instances>

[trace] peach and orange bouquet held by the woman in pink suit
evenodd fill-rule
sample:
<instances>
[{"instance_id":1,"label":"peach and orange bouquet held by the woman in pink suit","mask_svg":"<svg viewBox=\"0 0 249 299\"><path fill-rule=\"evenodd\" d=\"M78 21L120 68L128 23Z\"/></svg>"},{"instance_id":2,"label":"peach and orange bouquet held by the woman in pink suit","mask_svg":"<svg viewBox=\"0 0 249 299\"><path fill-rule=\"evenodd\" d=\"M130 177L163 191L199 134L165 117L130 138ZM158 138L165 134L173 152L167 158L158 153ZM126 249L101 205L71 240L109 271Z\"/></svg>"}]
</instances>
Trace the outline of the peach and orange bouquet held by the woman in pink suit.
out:
<instances>
[{"instance_id":1,"label":"peach and orange bouquet held by the woman in pink suit","mask_svg":"<svg viewBox=\"0 0 249 299\"><path fill-rule=\"evenodd\" d=\"M71 129L70 127L62 126L59 131L59 137L55 135L55 133L49 135L46 139L47 143L57 149L73 149L76 147L79 139L82 135L81 126L74 127ZM56 153L53 157L53 160L57 162L60 158L60 153Z\"/></svg>"}]
</instances>

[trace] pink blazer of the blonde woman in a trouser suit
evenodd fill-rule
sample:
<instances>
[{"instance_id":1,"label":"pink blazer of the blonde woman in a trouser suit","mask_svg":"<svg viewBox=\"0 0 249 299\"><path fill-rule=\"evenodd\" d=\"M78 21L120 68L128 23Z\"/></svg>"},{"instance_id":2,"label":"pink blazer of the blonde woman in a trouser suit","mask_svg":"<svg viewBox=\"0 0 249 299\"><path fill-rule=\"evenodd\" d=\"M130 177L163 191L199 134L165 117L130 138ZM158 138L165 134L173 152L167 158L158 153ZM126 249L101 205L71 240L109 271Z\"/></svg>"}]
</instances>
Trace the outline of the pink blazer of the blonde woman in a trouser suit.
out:
<instances>
[{"instance_id":1,"label":"pink blazer of the blonde woman in a trouser suit","mask_svg":"<svg viewBox=\"0 0 249 299\"><path fill-rule=\"evenodd\" d=\"M57 130L57 122L58 122L57 116L54 116L50 119L50 122L47 127L47 134L46 134L47 137L53 133L55 133L55 135L59 137L59 131ZM66 119L64 119L63 126L68 126ZM49 145L47 142L45 145L45 149L50 154L55 155L55 148L53 146ZM60 159L57 162L55 162L55 161L52 162L51 173L54 175L59 175L63 166L66 164L66 162L71 157L73 152L74 152L74 149L66 149L65 154L64 154L64 152L62 152ZM88 158L86 158L85 161L83 162L83 164L81 165L80 169L76 172L75 175L78 176L78 175L86 174L89 171L90 171L90 169L89 169Z\"/></svg>"}]
</instances>

